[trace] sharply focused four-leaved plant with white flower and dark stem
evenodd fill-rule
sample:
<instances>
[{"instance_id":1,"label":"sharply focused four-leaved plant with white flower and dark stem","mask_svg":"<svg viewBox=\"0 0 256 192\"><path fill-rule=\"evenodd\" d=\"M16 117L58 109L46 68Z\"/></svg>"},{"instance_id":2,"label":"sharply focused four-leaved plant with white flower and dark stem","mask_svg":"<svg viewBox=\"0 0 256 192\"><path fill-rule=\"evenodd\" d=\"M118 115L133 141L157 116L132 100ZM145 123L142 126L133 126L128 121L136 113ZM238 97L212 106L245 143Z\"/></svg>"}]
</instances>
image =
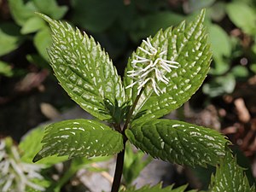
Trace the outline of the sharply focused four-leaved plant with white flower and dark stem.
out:
<instances>
[{"instance_id":1,"label":"sharply focused four-leaved plant with white flower and dark stem","mask_svg":"<svg viewBox=\"0 0 256 192\"><path fill-rule=\"evenodd\" d=\"M160 119L188 101L207 76L212 53L203 26L204 10L189 25L182 22L143 40L128 61L123 81L92 37L67 23L38 15L49 22L53 32L49 61L56 78L97 120L71 119L49 125L34 162L54 154L69 158L118 154L112 187L115 192L119 191L127 141L154 158L180 165L216 166L230 157L226 154L230 153L226 148L229 142L217 131ZM219 189L220 183L214 183L219 177L222 175L212 177L210 190ZM229 183L230 177L224 180ZM143 190L160 189L138 191Z\"/></svg>"}]
</instances>

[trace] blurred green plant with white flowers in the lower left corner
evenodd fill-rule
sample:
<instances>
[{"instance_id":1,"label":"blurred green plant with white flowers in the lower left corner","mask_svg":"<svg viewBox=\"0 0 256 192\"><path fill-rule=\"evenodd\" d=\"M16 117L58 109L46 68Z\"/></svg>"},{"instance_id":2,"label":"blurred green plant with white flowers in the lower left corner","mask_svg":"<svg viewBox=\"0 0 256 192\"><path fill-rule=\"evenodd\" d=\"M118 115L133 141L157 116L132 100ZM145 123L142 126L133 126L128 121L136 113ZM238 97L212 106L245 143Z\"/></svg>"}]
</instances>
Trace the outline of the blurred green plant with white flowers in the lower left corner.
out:
<instances>
[{"instance_id":1,"label":"blurred green plant with white flowers in the lower left corner","mask_svg":"<svg viewBox=\"0 0 256 192\"><path fill-rule=\"evenodd\" d=\"M54 191L60 192L61 188L81 169L91 172L102 172L100 167L93 164L109 160L109 157L95 157L90 160L75 158L68 160L67 156L51 156L33 164L35 150L42 148L40 141L43 138L44 126L39 126L30 131L15 145L11 137L0 139L0 191L25 192L25 191ZM65 172L55 181L49 177L57 163L66 162Z\"/></svg>"}]
</instances>

